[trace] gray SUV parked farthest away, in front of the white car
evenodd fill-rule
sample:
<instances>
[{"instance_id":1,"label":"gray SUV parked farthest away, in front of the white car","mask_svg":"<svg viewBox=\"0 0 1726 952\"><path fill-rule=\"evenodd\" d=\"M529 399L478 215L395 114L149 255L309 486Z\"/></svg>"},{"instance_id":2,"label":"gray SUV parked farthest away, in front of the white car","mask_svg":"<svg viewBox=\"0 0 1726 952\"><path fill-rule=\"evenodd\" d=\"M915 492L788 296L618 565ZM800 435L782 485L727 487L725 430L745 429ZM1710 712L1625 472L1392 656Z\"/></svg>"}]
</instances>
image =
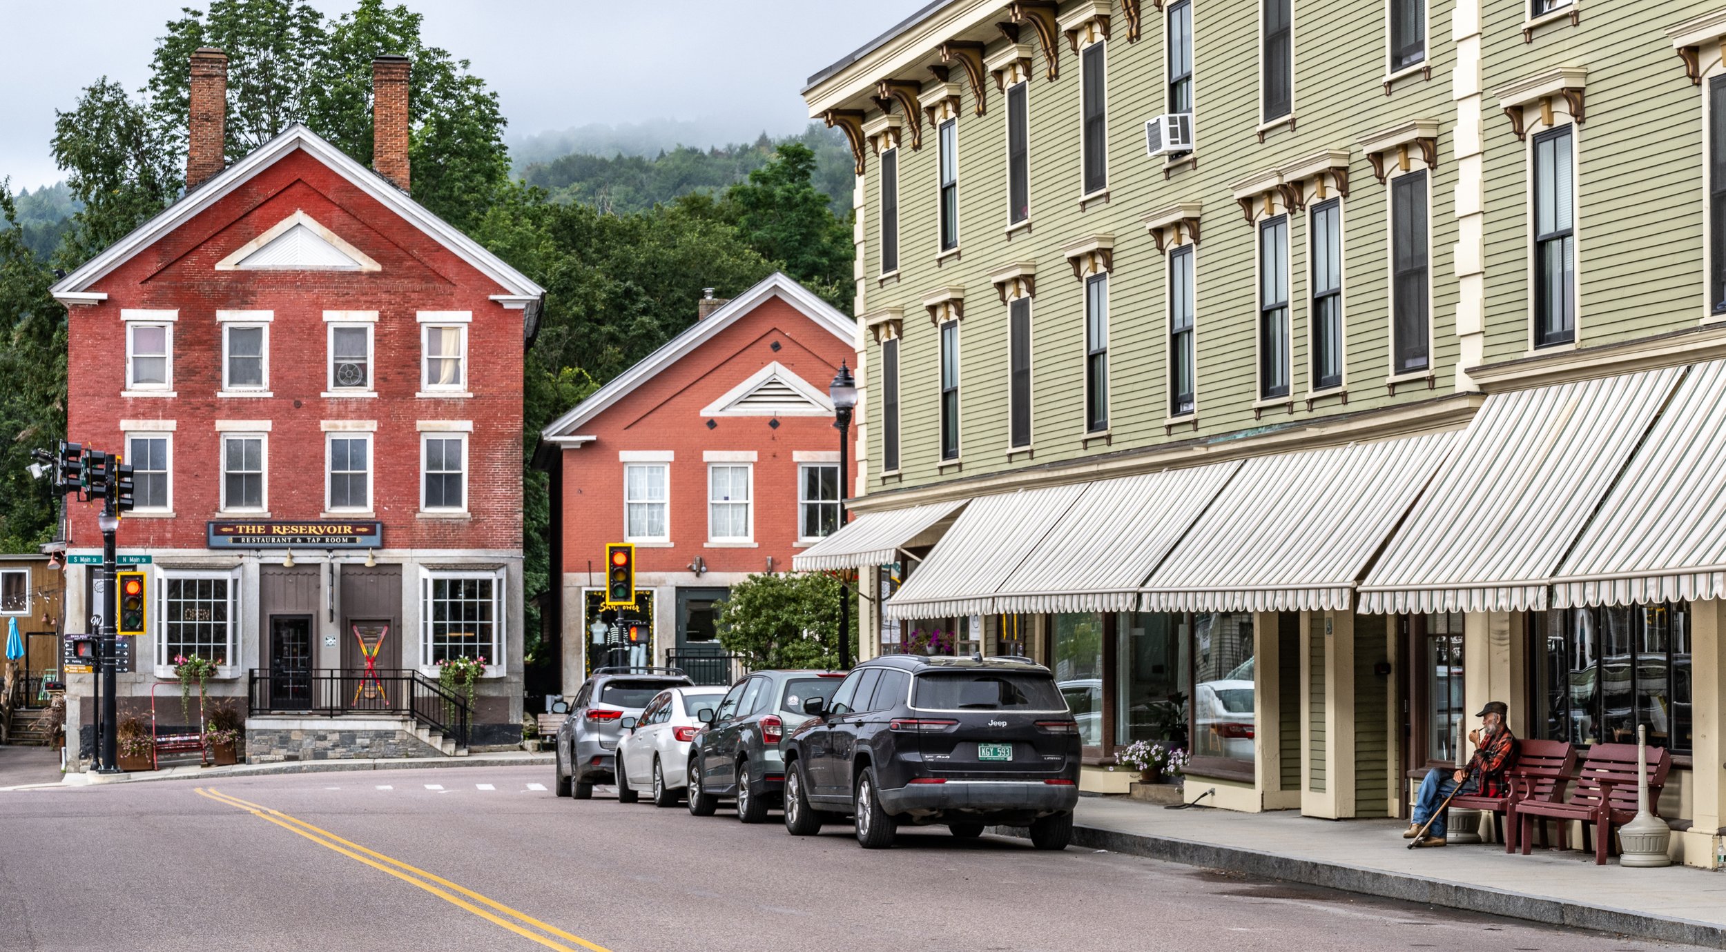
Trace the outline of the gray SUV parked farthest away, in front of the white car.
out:
<instances>
[{"instance_id":1,"label":"gray SUV parked farthest away, in front of the white car","mask_svg":"<svg viewBox=\"0 0 1726 952\"><path fill-rule=\"evenodd\" d=\"M557 795L587 800L595 783L616 783L623 719L640 717L659 692L690 685L677 667L595 669L557 728Z\"/></svg>"}]
</instances>

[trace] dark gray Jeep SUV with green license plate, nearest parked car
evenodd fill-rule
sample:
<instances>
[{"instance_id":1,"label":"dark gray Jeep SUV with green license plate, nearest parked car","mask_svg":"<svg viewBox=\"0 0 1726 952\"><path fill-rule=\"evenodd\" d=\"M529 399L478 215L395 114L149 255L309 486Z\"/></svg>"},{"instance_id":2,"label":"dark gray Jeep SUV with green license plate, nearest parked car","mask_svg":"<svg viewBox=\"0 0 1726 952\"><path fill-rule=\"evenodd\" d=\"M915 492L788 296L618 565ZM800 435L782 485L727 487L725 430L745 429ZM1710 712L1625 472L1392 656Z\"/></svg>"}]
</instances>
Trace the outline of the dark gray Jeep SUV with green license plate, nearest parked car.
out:
<instances>
[{"instance_id":1,"label":"dark gray Jeep SUV with green license plate, nearest parked car","mask_svg":"<svg viewBox=\"0 0 1726 952\"><path fill-rule=\"evenodd\" d=\"M858 843L899 823L1029 826L1037 849L1072 840L1079 724L1048 667L1008 657L887 655L851 671L784 743L785 830L856 817Z\"/></svg>"}]
</instances>

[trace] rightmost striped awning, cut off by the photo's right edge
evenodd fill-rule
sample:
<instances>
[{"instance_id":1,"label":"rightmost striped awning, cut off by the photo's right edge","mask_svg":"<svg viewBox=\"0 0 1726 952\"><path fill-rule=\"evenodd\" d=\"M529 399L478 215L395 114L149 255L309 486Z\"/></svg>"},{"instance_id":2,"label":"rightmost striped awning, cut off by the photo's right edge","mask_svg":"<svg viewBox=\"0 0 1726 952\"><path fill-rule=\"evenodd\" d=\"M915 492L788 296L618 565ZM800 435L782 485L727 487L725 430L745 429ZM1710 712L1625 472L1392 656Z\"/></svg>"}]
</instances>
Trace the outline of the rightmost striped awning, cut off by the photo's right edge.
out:
<instances>
[{"instance_id":1,"label":"rightmost striped awning, cut off by the photo's right edge","mask_svg":"<svg viewBox=\"0 0 1726 952\"><path fill-rule=\"evenodd\" d=\"M1726 597L1726 360L1688 369L1552 581L1560 609Z\"/></svg>"}]
</instances>

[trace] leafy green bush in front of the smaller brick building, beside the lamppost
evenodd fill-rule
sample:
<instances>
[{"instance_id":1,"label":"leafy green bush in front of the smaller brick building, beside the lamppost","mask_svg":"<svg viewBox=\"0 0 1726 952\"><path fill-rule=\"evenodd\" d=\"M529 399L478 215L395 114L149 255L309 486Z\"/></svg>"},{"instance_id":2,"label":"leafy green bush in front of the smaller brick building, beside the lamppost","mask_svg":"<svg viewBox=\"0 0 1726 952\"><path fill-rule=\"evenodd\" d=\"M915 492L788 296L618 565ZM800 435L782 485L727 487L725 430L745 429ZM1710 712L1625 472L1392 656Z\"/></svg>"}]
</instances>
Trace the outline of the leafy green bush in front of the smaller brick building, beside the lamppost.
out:
<instances>
[{"instance_id":1,"label":"leafy green bush in front of the smaller brick building, beside the lamppost","mask_svg":"<svg viewBox=\"0 0 1726 952\"><path fill-rule=\"evenodd\" d=\"M827 573L753 574L720 602L720 643L749 667L837 667L844 595ZM849 640L856 645L856 617Z\"/></svg>"}]
</instances>

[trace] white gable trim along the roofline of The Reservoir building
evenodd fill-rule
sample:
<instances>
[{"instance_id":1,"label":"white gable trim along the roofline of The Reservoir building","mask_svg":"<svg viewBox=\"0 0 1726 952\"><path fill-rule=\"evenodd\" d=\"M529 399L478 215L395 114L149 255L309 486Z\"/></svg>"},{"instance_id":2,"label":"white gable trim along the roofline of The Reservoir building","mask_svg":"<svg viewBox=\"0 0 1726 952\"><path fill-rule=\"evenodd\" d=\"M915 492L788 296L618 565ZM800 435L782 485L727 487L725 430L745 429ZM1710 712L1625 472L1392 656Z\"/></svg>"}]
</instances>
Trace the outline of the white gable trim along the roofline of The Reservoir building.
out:
<instances>
[{"instance_id":1,"label":"white gable trim along the roofline of The Reservoir building","mask_svg":"<svg viewBox=\"0 0 1726 952\"><path fill-rule=\"evenodd\" d=\"M544 288L530 281L514 267L509 267L502 259L487 252L476 241L461 231L456 231L456 228L449 222L428 212L418 202L409 198L400 188L395 188L395 185L388 179L352 160L345 152L324 141L318 133L295 122L288 128L288 131L254 148L250 155L240 159L233 166L228 166L221 174L188 191L180 198L180 202L174 202L159 216L133 229L131 235L121 238L107 250L62 278L57 285L54 285L54 297L67 305L91 304L90 295L86 293L91 285L110 274L116 267L131 260L131 257L143 248L159 241L164 235L190 221L198 212L207 210L211 205L228 197L233 190L240 188L264 169L274 166L280 159L290 155L295 148L304 148L311 157L318 159L356 188L383 204L383 207L399 214L404 221L416 226L433 241L449 248L456 257L468 262L492 281L497 281L497 285L509 295L539 298L545 293Z\"/></svg>"}]
</instances>

